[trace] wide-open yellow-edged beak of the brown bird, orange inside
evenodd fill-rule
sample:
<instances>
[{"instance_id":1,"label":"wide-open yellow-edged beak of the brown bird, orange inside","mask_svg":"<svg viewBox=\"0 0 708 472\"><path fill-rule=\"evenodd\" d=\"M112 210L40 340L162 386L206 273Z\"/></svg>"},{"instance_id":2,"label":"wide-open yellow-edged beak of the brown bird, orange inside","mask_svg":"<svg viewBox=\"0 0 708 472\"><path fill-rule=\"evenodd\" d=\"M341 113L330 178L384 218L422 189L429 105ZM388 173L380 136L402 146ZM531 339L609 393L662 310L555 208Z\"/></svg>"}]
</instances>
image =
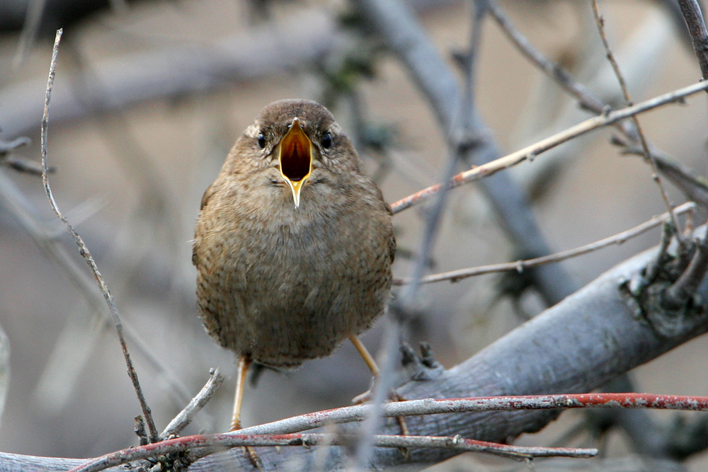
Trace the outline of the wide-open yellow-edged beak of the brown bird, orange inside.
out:
<instances>
[{"instance_id":1,"label":"wide-open yellow-edged beak of the brown bird, orange inside","mask_svg":"<svg viewBox=\"0 0 708 472\"><path fill-rule=\"evenodd\" d=\"M278 144L280 174L292 190L295 208L300 206L300 190L312 171L312 142L300 127L300 120L295 117L292 125Z\"/></svg>"}]
</instances>

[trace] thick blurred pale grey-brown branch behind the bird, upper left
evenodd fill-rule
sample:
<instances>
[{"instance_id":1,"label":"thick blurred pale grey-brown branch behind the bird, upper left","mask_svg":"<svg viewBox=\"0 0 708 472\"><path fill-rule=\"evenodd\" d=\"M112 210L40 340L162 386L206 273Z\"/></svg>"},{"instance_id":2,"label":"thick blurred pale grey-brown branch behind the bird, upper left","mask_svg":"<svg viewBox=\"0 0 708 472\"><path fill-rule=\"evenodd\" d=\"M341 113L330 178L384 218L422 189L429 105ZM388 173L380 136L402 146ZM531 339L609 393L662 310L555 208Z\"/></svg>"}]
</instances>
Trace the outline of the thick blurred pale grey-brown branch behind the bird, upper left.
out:
<instances>
[{"instance_id":1,"label":"thick blurred pale grey-brown branch behind the bird, upper left","mask_svg":"<svg viewBox=\"0 0 708 472\"><path fill-rule=\"evenodd\" d=\"M63 87L52 98L52 122L86 117L96 109L120 110L147 100L188 96L297 71L329 54L341 40L332 18L318 11L299 11L282 24L266 23L210 45L179 42L105 59L93 67L94 76L103 84L103 96L91 98L100 99L100 104L86 102L85 97L81 100L69 86ZM59 81L70 84L77 79L67 71ZM3 136L33 135L42 113L42 103L34 97L44 86L43 81L22 81L0 90L0 103L13 110L13 120L3 124Z\"/></svg>"}]
</instances>

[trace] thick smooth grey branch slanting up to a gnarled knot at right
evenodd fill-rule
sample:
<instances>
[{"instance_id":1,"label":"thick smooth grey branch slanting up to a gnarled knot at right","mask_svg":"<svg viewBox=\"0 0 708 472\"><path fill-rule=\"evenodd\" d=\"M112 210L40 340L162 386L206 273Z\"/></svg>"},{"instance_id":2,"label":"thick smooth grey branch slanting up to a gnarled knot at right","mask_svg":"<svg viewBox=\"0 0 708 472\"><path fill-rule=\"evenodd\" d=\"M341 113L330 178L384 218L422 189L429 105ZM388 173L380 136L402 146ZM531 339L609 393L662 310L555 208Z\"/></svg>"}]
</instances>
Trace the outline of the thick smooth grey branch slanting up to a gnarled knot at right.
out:
<instances>
[{"instance_id":1,"label":"thick smooth grey branch slanting up to a gnarled knot at right","mask_svg":"<svg viewBox=\"0 0 708 472\"><path fill-rule=\"evenodd\" d=\"M704 231L704 228L701 230ZM703 233L702 233L703 234ZM579 292L564 299L550 309L536 316L533 321L513 330L503 338L486 347L466 362L440 371L425 380L411 381L398 389L398 393L406 398L428 398L418 401L416 408L428 408L428 405L444 405L445 398L459 398L463 396L499 396L510 393L534 395L543 391L590 391L618 374L647 362L673 347L695 338L708 330L708 316L702 315L690 318L683 324L682 329L668 333L666 336L657 336L648 323L636 318L632 307L619 292L618 284L640 274L648 263L656 258L657 248L646 251L627 260L622 265L614 267L597 280L590 282ZM708 282L703 281L697 289L697 294L702 300L708 300ZM579 336L578 333L582 333ZM607 342L611 340L611 342ZM568 343L574 343L576 349L568 350ZM688 408L706 408L702 403L707 399L667 397L667 396L641 396L639 394L619 394L605 397L605 400L620 401L622 395L628 404L641 405L680 405L685 403ZM431 396L440 400L430 400ZM536 401L541 402L549 396L537 396ZM413 415L408 417L408 424L413 434L421 436L449 436L460 434L463 437L500 442L507 437L515 437L522 432L539 430L549 421L556 418L561 406L573 402L573 397L556 397L560 403L549 403L550 409L542 411L480 411L474 413L440 414L434 419ZM600 396L586 396L586 400L593 403L595 398L600 401ZM467 399L466 399L467 400ZM478 401L469 399L470 401ZM519 400L519 398L516 398ZM578 398L576 397L576 400ZM565 403L563 403L565 402ZM667 403L668 402L668 403ZM517 402L519 403L519 402ZM582 402L580 402L582 403ZM587 402L586 402L587 403ZM606 403L606 402L605 402ZM610 403L606 403L607 406ZM403 405L403 406L401 406ZM415 405L415 404L413 404ZM472 405L468 405L472 408ZM363 418L365 405L348 407L346 411L331 410L329 412L312 413L302 417L282 420L249 427L242 430L241 434L293 432L307 430L312 427L331 424L334 422L351 420L358 415ZM411 408L411 403L387 403L383 405L385 411L392 415L400 415L400 408ZM390 410L389 410L390 408ZM395 410L399 408L399 410ZM441 408L441 407L435 407ZM476 407L475 407L476 408ZM514 408L518 408L515 405ZM413 411L412 409L409 411ZM419 410L418 410L419 411ZM429 411L429 410L428 410ZM328 415L322 418L321 414ZM342 425L345 433L353 433L357 425ZM397 424L385 424L382 434L396 434ZM305 449L287 449L280 452L272 448L259 451L263 460L263 470L271 471L282 467L286 462L296 461L299 468L314 468L316 466L313 451ZM345 451L340 448L329 448L327 451L325 467L335 468L341 466ZM408 459L408 464L433 464L455 454L447 449L413 449ZM219 452L215 455L201 459L191 468L195 471L214 470L224 464L224 461L234 466L249 466L239 449ZM402 464L404 458L398 451L377 449L371 458L371 466L384 467ZM0 454L0 464L7 464L8 471L21 470L13 464L23 464L24 470L32 470L32 464L44 464L45 470L66 470L69 466L79 466L85 461L73 459L38 459L14 454ZM51 468L49 466L51 465ZM319 467L321 468L322 465ZM63 469L62 469L63 467Z\"/></svg>"}]
</instances>

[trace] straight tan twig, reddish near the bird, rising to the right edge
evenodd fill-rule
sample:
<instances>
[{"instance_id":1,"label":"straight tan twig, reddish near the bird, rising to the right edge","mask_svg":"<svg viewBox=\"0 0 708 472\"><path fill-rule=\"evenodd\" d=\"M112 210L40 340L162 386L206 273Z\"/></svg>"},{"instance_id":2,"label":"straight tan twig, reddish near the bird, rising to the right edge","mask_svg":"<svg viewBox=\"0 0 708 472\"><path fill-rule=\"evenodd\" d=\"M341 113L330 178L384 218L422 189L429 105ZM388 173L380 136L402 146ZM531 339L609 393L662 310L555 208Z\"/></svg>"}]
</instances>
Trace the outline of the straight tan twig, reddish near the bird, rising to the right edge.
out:
<instances>
[{"instance_id":1,"label":"straight tan twig, reddish near the bird, rising to the right edge","mask_svg":"<svg viewBox=\"0 0 708 472\"><path fill-rule=\"evenodd\" d=\"M622 108L620 110L611 111L610 113L588 118L588 120L582 121L578 123L578 125L569 127L568 129L558 132L551 137L547 137L546 139L542 139L535 144L526 146L523 149L500 157L499 159L481 166L476 166L469 171L459 173L447 183L447 187L455 188L464 183L474 182L475 180L479 180L487 175L491 175L503 169L515 166L520 162L535 159L544 151L548 151L549 149L552 149L559 144L563 144L570 139L578 137L581 134L586 134L603 126L613 125L619 120L624 120L627 117L653 110L654 108L666 105L667 103L680 102L686 96L690 96L694 93L707 89L708 81L700 81L690 86L664 93L663 95L651 98L636 105L628 106L627 108ZM402 212L404 209L413 207L413 205L418 205L419 203L427 200L431 195L435 195L440 192L441 188L442 185L438 183L431 185L428 188L424 188L423 190L419 190L418 192L413 193L413 195L404 197L391 205L392 212L395 214Z\"/></svg>"}]
</instances>

